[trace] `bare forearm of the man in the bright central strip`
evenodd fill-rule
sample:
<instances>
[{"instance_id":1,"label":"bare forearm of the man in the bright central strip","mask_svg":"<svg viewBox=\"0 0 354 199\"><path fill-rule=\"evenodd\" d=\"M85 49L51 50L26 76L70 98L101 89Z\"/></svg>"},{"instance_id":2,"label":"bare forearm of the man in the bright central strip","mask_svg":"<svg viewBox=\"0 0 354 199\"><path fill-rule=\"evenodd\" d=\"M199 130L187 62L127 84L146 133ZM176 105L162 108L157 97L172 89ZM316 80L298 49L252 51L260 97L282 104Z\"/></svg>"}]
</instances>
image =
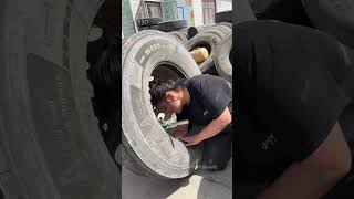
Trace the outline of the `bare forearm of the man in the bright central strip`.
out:
<instances>
[{"instance_id":1,"label":"bare forearm of the man in the bright central strip","mask_svg":"<svg viewBox=\"0 0 354 199\"><path fill-rule=\"evenodd\" d=\"M228 107L225 108L225 111L221 113L219 117L211 121L202 130L200 130L198 134L188 136L188 137L181 137L180 140L186 142L186 146L196 145L205 139L208 139L210 137L216 136L219 134L226 126L228 126L231 123L231 114Z\"/></svg>"}]
</instances>

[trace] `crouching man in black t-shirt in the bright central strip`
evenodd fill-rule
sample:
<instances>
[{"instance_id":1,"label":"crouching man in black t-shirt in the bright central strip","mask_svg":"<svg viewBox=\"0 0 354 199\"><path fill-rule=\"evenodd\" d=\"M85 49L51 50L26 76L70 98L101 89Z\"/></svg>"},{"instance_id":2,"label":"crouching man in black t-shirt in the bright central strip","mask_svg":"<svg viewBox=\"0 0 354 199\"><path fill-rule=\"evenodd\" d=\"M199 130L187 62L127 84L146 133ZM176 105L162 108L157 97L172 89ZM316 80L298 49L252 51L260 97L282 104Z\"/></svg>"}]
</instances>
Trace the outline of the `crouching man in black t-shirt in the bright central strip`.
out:
<instances>
[{"instance_id":1,"label":"crouching man in black t-shirt in the bright central strip","mask_svg":"<svg viewBox=\"0 0 354 199\"><path fill-rule=\"evenodd\" d=\"M231 156L231 87L226 80L197 75L189 80L156 81L150 88L152 104L178 119L205 126L198 134L179 135L186 146L204 143L201 166L223 169Z\"/></svg>"}]
</instances>

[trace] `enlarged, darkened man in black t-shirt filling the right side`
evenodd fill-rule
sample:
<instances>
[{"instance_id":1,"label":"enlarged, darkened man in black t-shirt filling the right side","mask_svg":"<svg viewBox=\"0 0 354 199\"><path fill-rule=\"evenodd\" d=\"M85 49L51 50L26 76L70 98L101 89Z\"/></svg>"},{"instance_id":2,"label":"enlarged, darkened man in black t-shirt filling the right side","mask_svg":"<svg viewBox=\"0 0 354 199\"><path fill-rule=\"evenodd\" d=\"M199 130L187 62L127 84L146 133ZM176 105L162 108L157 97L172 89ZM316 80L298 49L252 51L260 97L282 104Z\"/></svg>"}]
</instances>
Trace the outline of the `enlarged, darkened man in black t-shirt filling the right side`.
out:
<instances>
[{"instance_id":1,"label":"enlarged, darkened man in black t-shirt filling the right side","mask_svg":"<svg viewBox=\"0 0 354 199\"><path fill-rule=\"evenodd\" d=\"M232 32L237 179L268 184L258 199L324 196L351 170L354 54L282 22Z\"/></svg>"}]
</instances>

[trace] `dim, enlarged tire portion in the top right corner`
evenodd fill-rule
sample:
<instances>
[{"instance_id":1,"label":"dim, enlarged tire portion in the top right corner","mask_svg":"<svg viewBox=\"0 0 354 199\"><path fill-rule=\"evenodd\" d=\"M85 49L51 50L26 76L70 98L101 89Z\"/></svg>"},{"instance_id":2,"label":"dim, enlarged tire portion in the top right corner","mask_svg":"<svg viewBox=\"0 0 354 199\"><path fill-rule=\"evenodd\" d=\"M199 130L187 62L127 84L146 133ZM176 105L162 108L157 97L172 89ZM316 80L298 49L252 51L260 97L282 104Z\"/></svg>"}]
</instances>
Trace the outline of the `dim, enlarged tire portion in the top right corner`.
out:
<instances>
[{"instance_id":1,"label":"dim, enlarged tire portion in the top right corner","mask_svg":"<svg viewBox=\"0 0 354 199\"><path fill-rule=\"evenodd\" d=\"M354 48L354 1L302 0L314 27Z\"/></svg>"}]
</instances>

